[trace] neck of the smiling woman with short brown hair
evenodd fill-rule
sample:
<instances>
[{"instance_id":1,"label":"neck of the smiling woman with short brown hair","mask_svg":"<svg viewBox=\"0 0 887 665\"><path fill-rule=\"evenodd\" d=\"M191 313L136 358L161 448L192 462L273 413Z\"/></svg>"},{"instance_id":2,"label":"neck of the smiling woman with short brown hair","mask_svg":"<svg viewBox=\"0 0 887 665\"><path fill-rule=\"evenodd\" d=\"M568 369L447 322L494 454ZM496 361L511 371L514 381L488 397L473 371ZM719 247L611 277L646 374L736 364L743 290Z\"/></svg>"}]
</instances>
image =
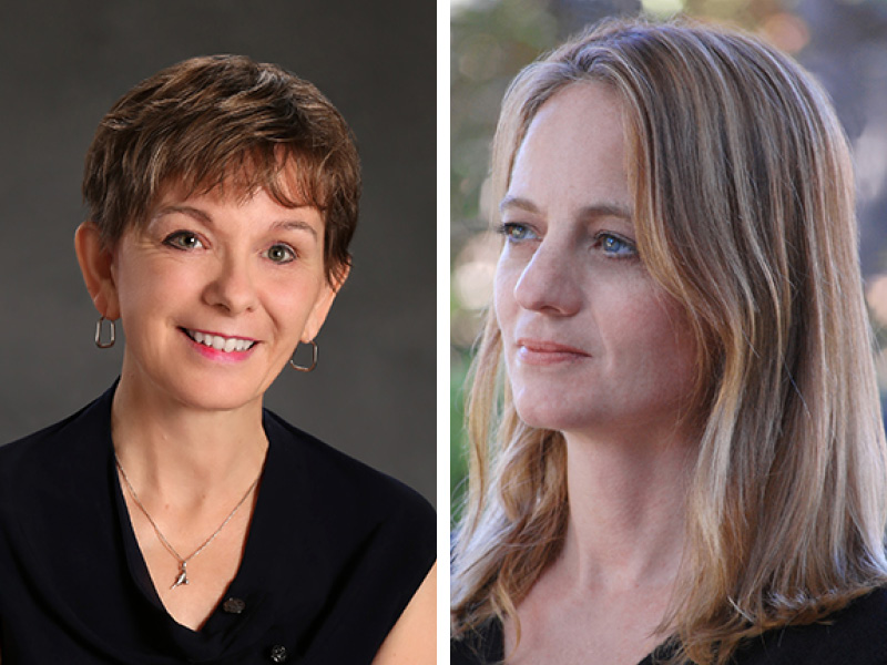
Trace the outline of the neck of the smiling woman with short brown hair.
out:
<instances>
[{"instance_id":1,"label":"neck of the smiling woman with short brown hair","mask_svg":"<svg viewBox=\"0 0 887 665\"><path fill-rule=\"evenodd\" d=\"M111 431L132 483L175 503L212 500L216 490L243 491L267 451L261 402L195 410L141 389L125 375L114 393Z\"/></svg>"}]
</instances>

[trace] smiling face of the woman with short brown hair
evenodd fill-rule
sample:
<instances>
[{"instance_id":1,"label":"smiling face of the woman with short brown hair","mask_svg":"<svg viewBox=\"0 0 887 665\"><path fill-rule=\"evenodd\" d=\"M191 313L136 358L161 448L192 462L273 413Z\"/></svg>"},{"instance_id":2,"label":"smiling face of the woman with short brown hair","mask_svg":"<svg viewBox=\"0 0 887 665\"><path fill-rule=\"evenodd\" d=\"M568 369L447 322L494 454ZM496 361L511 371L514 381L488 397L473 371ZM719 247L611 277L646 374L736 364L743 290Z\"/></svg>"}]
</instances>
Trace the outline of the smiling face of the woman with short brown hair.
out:
<instances>
[{"instance_id":1,"label":"smiling face of the woman with short brown hair","mask_svg":"<svg viewBox=\"0 0 887 665\"><path fill-rule=\"evenodd\" d=\"M124 233L111 273L122 380L210 410L261 403L335 296L320 213L262 190L246 200L171 190L144 231Z\"/></svg>"}]
</instances>

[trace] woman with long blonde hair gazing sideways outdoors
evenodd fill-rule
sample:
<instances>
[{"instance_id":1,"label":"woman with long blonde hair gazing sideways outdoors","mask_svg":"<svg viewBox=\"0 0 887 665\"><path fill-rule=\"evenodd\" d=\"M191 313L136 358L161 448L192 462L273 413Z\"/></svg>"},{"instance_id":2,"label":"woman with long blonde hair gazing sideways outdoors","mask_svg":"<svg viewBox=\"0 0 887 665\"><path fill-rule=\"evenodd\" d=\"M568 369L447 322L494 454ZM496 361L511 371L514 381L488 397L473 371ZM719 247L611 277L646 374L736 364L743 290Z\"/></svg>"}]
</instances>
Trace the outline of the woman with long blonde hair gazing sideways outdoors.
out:
<instances>
[{"instance_id":1,"label":"woman with long blonde hair gazing sideways outdoors","mask_svg":"<svg viewBox=\"0 0 887 665\"><path fill-rule=\"evenodd\" d=\"M475 361L452 662L887 662L887 452L846 137L736 32L524 69Z\"/></svg>"}]
</instances>

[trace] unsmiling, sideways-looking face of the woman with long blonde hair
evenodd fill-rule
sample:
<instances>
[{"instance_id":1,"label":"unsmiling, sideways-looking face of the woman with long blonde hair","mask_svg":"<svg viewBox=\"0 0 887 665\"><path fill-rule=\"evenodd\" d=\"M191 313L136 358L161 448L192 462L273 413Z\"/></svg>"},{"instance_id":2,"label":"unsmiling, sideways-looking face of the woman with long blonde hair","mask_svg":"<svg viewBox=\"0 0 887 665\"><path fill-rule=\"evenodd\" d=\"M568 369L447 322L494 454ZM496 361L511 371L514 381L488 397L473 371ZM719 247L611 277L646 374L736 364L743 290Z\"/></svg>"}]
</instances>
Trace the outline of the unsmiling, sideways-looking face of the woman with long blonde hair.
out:
<instances>
[{"instance_id":1,"label":"unsmiling, sideways-looking face of the woman with long blonde hair","mask_svg":"<svg viewBox=\"0 0 887 665\"><path fill-rule=\"evenodd\" d=\"M546 102L501 203L495 311L530 426L669 436L694 381L677 305L638 255L621 102L601 83Z\"/></svg>"}]
</instances>

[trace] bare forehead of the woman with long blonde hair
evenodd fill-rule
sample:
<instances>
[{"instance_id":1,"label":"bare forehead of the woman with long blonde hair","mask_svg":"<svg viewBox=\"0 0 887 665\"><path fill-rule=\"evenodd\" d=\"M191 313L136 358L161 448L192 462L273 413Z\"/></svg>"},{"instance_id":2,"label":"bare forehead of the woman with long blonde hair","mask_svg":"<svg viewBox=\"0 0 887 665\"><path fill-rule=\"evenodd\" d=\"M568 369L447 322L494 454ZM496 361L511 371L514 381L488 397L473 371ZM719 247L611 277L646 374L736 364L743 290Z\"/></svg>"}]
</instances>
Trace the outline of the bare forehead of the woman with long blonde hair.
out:
<instances>
[{"instance_id":1,"label":"bare forehead of the woman with long blonde hair","mask_svg":"<svg viewBox=\"0 0 887 665\"><path fill-rule=\"evenodd\" d=\"M622 102L610 85L574 83L539 109L518 149L508 194L540 187L571 200L628 202Z\"/></svg>"}]
</instances>

